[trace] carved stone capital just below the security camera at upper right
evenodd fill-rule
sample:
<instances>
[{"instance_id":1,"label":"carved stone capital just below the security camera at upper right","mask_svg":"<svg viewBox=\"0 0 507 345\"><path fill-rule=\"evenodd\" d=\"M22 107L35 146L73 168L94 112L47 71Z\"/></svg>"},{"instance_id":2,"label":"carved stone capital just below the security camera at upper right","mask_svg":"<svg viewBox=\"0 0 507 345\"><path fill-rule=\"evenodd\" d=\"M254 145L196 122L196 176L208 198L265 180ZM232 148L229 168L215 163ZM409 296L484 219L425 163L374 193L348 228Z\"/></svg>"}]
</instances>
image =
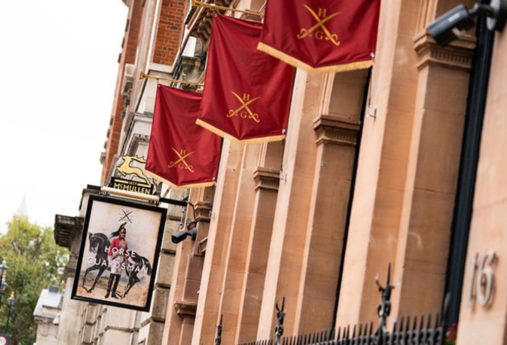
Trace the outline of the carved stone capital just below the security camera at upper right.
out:
<instances>
[{"instance_id":1,"label":"carved stone capital just below the security camera at upper right","mask_svg":"<svg viewBox=\"0 0 507 345\"><path fill-rule=\"evenodd\" d=\"M414 38L414 49L419 55L417 69L421 70L427 65L437 65L469 72L472 68L476 43L475 36L464 35L446 47L442 47L426 30Z\"/></svg>"}]
</instances>

